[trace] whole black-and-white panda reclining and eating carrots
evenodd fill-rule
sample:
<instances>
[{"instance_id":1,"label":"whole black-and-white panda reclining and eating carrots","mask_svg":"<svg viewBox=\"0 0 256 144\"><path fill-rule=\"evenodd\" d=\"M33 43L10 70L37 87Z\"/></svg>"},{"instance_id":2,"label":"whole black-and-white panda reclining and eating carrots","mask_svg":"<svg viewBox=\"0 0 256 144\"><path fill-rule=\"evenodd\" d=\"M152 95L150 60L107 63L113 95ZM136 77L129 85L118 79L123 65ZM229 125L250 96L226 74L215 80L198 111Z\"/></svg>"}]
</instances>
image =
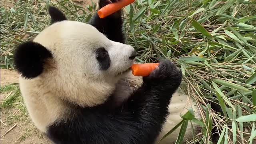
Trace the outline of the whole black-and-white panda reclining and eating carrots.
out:
<instances>
[{"instance_id":1,"label":"whole black-and-white panda reclining and eating carrots","mask_svg":"<svg viewBox=\"0 0 256 144\"><path fill-rule=\"evenodd\" d=\"M108 2L100 0L100 8ZM176 92L182 74L172 62L160 62L147 77L131 74L136 52L124 44L121 11L102 19L95 14L85 24L48 10L52 24L18 46L14 64L28 113L52 142L153 144L182 120L187 107L200 118L197 104ZM175 142L179 130L161 144ZM185 139L190 138L188 124Z\"/></svg>"}]
</instances>

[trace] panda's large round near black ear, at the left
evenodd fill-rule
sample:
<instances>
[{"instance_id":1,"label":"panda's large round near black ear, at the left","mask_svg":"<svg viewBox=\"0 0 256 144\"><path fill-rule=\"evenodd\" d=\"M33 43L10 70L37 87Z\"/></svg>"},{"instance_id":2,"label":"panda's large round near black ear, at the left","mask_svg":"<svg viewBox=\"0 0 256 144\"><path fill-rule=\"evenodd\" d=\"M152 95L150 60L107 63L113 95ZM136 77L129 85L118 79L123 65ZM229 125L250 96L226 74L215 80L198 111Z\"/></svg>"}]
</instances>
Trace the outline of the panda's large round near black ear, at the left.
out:
<instances>
[{"instance_id":1,"label":"panda's large round near black ear, at the left","mask_svg":"<svg viewBox=\"0 0 256 144\"><path fill-rule=\"evenodd\" d=\"M16 49L14 65L23 77L35 78L43 72L49 58L52 58L52 54L44 46L36 42L25 42Z\"/></svg>"}]
</instances>

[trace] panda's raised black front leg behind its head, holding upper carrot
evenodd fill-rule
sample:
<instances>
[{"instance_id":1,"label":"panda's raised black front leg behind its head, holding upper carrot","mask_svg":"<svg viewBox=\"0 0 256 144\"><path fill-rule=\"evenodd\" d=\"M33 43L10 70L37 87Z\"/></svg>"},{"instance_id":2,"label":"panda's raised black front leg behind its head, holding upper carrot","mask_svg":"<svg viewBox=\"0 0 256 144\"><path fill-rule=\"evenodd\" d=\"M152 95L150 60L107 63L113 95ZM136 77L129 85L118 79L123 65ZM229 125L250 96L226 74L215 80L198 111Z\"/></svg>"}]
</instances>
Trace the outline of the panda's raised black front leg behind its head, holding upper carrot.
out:
<instances>
[{"instance_id":1,"label":"panda's raised black front leg behind its head, holding upper carrot","mask_svg":"<svg viewBox=\"0 0 256 144\"><path fill-rule=\"evenodd\" d=\"M99 9L107 4L118 2L118 0L99 0ZM89 24L97 28L102 34L105 34L108 39L125 43L124 32L122 31L122 10L118 10L114 14L100 18L97 13L94 14Z\"/></svg>"}]
</instances>

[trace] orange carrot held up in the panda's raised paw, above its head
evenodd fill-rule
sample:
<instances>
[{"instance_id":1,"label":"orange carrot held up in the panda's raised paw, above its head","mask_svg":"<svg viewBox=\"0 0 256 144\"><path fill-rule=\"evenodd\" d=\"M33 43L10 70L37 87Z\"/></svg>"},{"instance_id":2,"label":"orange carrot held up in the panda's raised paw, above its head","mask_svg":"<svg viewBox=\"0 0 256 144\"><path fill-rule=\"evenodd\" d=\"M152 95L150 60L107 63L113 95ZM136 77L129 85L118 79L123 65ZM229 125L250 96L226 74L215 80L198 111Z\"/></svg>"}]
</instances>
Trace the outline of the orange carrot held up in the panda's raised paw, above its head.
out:
<instances>
[{"instance_id":1,"label":"orange carrot held up in the panda's raised paw, above its head","mask_svg":"<svg viewBox=\"0 0 256 144\"><path fill-rule=\"evenodd\" d=\"M106 6L102 7L100 10L98 10L98 15L100 18L105 18L106 16L109 16L110 14L113 14L114 12L120 10L121 8L133 3L134 0L120 0L119 2L110 3Z\"/></svg>"}]
</instances>

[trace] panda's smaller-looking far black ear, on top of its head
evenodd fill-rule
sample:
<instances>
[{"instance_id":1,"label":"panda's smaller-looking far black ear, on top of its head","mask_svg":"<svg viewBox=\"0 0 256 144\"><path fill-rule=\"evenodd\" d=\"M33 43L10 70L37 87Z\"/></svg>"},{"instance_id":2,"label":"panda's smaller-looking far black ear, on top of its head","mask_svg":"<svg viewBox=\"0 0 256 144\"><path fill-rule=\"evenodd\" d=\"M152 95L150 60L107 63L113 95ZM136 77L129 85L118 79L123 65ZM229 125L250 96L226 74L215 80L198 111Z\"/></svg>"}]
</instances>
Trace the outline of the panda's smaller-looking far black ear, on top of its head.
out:
<instances>
[{"instance_id":1,"label":"panda's smaller-looking far black ear, on top of its head","mask_svg":"<svg viewBox=\"0 0 256 144\"><path fill-rule=\"evenodd\" d=\"M48 12L51 16L51 23L55 23L55 22L60 22L62 20L67 20L66 16L60 11L58 10L58 8L55 8L53 6L49 6L48 8Z\"/></svg>"}]
</instances>

